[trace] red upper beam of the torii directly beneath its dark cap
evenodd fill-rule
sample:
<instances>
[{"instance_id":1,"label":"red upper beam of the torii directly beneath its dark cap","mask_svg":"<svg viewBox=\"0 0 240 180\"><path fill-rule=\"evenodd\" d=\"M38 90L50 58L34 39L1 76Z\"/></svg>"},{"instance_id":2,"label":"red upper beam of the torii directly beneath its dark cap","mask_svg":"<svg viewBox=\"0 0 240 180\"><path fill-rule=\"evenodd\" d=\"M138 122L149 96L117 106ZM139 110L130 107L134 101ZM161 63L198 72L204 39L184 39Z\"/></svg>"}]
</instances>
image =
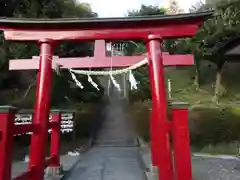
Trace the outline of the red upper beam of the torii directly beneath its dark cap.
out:
<instances>
[{"instance_id":1,"label":"red upper beam of the torii directly beneath its dark cap","mask_svg":"<svg viewBox=\"0 0 240 180\"><path fill-rule=\"evenodd\" d=\"M196 24L158 25L152 28L119 28L119 29L89 29L89 30L4 30L6 40L38 41L40 39L60 40L96 40L96 39L146 39L150 33L160 34L163 39L184 38L194 36L199 28Z\"/></svg>"}]
</instances>

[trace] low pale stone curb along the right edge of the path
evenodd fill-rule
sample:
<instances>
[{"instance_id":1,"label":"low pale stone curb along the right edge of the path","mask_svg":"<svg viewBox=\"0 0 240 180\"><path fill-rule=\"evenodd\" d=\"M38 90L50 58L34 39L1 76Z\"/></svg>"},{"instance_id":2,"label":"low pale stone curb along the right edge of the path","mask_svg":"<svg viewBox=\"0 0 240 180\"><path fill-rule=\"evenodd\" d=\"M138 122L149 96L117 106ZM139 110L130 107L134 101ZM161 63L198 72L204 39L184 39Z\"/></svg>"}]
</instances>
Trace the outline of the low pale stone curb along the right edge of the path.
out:
<instances>
[{"instance_id":1,"label":"low pale stone curb along the right edge of the path","mask_svg":"<svg viewBox=\"0 0 240 180\"><path fill-rule=\"evenodd\" d=\"M146 143L141 137L137 137L140 146L140 155L144 163L146 171L145 176L147 180L158 180L158 169L152 166L151 163L151 151L148 143Z\"/></svg>"}]
</instances>

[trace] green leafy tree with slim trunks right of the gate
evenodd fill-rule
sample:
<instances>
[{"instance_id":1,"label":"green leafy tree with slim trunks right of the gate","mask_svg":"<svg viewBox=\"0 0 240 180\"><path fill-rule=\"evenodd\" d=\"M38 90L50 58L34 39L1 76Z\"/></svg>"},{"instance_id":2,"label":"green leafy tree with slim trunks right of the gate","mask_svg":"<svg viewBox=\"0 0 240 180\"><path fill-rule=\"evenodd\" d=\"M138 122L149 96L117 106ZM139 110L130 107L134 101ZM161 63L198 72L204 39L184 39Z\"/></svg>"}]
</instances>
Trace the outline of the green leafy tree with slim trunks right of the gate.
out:
<instances>
[{"instance_id":1,"label":"green leafy tree with slim trunks right of the gate","mask_svg":"<svg viewBox=\"0 0 240 180\"><path fill-rule=\"evenodd\" d=\"M212 7L216 10L215 16L202 25L195 37L175 41L171 47L171 51L178 53L193 53L195 55L197 69L196 82L198 83L201 82L199 75L201 60L207 59L216 65L217 74L213 101L218 102L219 97L225 92L225 88L221 84L221 71L225 59L222 59L213 52L218 43L224 42L239 33L240 1L221 1L216 3L215 6L198 4L197 7L191 9L191 12L204 11Z\"/></svg>"}]
</instances>

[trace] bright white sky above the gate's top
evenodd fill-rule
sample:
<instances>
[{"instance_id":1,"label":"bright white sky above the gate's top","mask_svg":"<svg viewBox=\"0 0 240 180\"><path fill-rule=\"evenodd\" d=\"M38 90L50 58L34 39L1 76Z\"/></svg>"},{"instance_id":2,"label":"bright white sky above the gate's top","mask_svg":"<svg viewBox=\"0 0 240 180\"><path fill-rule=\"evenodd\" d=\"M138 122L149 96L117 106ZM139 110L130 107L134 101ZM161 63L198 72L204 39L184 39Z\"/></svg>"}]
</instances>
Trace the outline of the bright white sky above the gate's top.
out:
<instances>
[{"instance_id":1,"label":"bright white sky above the gate's top","mask_svg":"<svg viewBox=\"0 0 240 180\"><path fill-rule=\"evenodd\" d=\"M78 0L79 2L87 2L91 5L94 12L99 17L121 17L128 10L139 9L141 4L158 5L160 7L168 7L169 0ZM179 6L188 11L192 4L196 4L200 0L179 0Z\"/></svg>"}]
</instances>

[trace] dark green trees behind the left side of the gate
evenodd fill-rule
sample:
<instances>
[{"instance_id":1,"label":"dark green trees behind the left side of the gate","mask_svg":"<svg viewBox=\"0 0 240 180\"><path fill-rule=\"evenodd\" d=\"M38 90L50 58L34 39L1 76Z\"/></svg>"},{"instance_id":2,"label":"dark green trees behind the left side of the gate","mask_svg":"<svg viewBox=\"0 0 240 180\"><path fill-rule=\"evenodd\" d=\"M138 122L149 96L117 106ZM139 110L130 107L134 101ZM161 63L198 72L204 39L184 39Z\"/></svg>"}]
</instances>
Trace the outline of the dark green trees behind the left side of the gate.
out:
<instances>
[{"instance_id":1,"label":"dark green trees behind the left side of the gate","mask_svg":"<svg viewBox=\"0 0 240 180\"><path fill-rule=\"evenodd\" d=\"M5 2L3 11L6 13L2 16L10 16L17 18L82 18L82 17L96 17L94 13L86 3L77 3L75 0L21 0L21 1L8 1ZM14 7L14 9L12 8ZM3 12L2 11L2 12ZM2 13L1 12L1 13ZM39 55L39 47L34 43L20 44L20 43L6 43L4 42L3 35L1 34L1 46L0 46L0 88L1 91L10 91L15 88L17 91L26 91L35 82L36 72L9 72L8 59L24 59L32 58L32 56ZM62 42L57 48L55 48L55 55L60 57L73 57L73 56L91 56L93 54L92 42ZM29 78L31 77L31 78ZM24 81L23 81L24 79ZM89 84L87 77L79 77L79 80L84 84L84 90L79 88L71 88L71 77L69 72L61 72L61 76L54 74L53 90L52 90L52 105L58 106L62 103L68 102L96 102L101 100L103 96L103 89L100 87L100 91L97 91ZM98 83L97 79L93 78ZM85 85L86 84L86 85ZM17 97L17 101L12 102L12 99L6 99L1 103L10 103L22 105L33 105L35 100L35 85L23 100L22 97ZM13 92L14 93L14 92ZM3 94L3 93L0 93ZM24 92L19 93L24 94ZM32 96L32 97L28 97ZM1 98L2 99L2 98ZM16 105L17 105L16 104Z\"/></svg>"}]
</instances>

